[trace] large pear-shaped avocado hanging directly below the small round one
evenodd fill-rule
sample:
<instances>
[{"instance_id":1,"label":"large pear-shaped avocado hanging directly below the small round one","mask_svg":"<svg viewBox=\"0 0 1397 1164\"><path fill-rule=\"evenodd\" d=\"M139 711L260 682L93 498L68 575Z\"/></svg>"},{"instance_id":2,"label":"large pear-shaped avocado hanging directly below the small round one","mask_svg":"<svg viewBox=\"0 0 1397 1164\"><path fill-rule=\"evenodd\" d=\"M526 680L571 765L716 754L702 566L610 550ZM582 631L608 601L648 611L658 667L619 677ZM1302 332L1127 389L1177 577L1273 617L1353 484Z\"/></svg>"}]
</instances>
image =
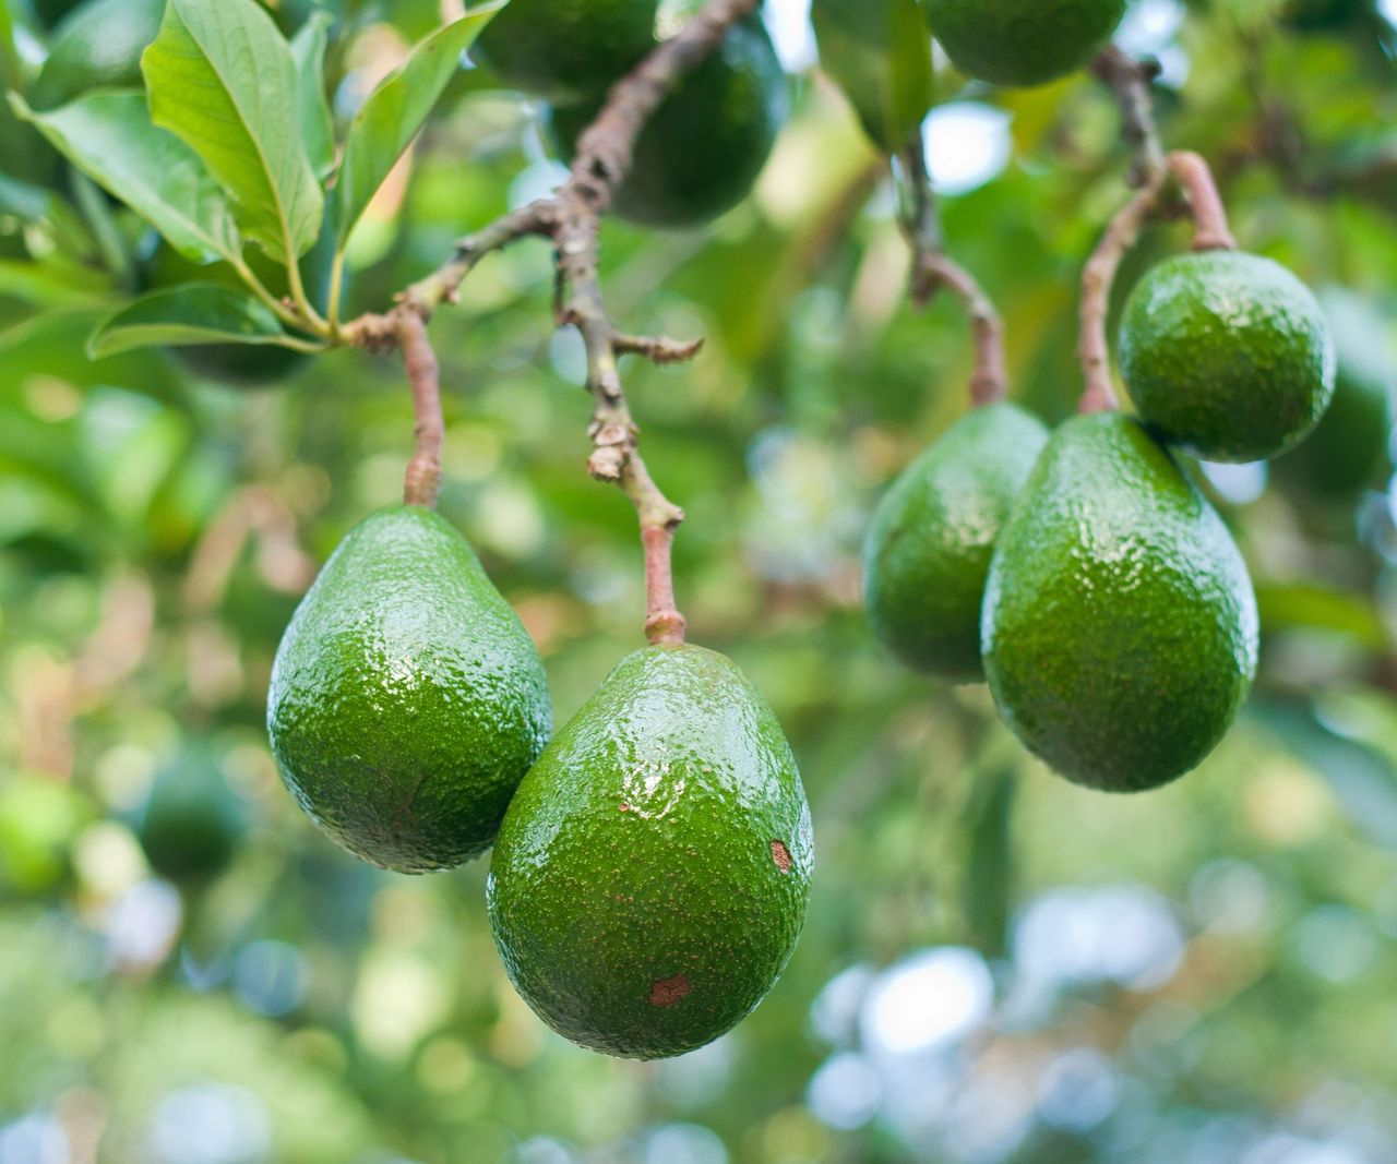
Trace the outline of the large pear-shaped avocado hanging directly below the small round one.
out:
<instances>
[{"instance_id":1,"label":"large pear-shaped avocado hanging directly below the small round one","mask_svg":"<svg viewBox=\"0 0 1397 1164\"><path fill-rule=\"evenodd\" d=\"M1018 738L1108 791L1196 768L1256 674L1256 596L1231 533L1118 413L1048 442L995 550L982 635Z\"/></svg>"}]
</instances>

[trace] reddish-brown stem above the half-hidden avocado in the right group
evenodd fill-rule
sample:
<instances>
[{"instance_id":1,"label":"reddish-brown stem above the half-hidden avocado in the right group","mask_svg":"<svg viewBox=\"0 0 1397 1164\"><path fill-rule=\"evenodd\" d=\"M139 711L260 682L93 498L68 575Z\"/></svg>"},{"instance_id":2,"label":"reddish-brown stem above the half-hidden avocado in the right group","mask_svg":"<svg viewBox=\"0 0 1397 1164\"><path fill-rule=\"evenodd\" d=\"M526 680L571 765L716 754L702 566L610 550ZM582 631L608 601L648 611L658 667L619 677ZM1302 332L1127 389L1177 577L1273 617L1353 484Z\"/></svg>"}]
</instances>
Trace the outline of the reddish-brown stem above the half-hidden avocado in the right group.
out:
<instances>
[{"instance_id":1,"label":"reddish-brown stem above the half-hidden avocado in the right group","mask_svg":"<svg viewBox=\"0 0 1397 1164\"><path fill-rule=\"evenodd\" d=\"M912 135L897 158L902 207L898 225L912 247L912 301L925 307L946 288L965 308L975 336L975 370L970 395L975 406L1004 399L1009 373L1004 364L1004 327L995 303L975 276L943 250L936 195L926 169L926 147L921 133Z\"/></svg>"}]
</instances>

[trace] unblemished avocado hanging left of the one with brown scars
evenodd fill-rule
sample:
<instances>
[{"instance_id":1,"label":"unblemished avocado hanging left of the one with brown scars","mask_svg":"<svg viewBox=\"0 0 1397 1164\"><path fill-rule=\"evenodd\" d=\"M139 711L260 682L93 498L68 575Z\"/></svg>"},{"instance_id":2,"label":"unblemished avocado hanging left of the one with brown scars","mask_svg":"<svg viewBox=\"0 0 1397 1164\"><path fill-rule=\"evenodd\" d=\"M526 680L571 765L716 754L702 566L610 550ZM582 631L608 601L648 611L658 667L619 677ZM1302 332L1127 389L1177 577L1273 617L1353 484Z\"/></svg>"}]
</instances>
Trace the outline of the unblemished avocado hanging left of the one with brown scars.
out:
<instances>
[{"instance_id":1,"label":"unblemished avocado hanging left of the one with brown scars","mask_svg":"<svg viewBox=\"0 0 1397 1164\"><path fill-rule=\"evenodd\" d=\"M408 505L335 550L282 636L267 703L302 808L398 872L483 853L552 727L518 617L465 539Z\"/></svg>"}]
</instances>

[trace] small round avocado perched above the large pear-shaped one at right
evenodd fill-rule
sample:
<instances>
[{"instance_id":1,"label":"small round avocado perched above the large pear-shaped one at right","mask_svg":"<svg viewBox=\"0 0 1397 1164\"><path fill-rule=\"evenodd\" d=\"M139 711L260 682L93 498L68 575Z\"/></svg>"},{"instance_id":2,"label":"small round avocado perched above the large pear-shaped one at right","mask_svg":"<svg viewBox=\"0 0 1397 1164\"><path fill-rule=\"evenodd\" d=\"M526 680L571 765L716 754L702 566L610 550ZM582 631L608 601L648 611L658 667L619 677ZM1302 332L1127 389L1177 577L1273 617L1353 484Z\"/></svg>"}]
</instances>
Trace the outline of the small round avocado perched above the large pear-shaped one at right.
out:
<instances>
[{"instance_id":1,"label":"small round avocado perched above the large pear-shaped one at right","mask_svg":"<svg viewBox=\"0 0 1397 1164\"><path fill-rule=\"evenodd\" d=\"M1299 444L1334 395L1319 301L1278 262L1178 255L1136 285L1120 371L1140 416L1208 461L1261 461Z\"/></svg>"}]
</instances>

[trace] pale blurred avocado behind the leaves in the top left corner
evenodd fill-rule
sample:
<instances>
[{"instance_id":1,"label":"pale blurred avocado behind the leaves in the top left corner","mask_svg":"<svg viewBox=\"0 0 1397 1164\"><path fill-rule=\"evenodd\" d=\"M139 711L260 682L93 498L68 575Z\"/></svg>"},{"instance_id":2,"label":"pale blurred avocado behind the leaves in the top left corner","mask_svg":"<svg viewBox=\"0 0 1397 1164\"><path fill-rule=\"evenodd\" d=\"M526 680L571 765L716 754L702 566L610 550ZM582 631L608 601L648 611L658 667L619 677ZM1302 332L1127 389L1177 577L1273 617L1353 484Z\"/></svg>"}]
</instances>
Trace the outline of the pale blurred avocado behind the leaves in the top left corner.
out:
<instances>
[{"instance_id":1,"label":"pale blurred avocado behind the leaves in the top left corner","mask_svg":"<svg viewBox=\"0 0 1397 1164\"><path fill-rule=\"evenodd\" d=\"M29 103L53 109L92 89L141 88L141 53L161 31L165 0L87 0L53 29Z\"/></svg>"}]
</instances>

